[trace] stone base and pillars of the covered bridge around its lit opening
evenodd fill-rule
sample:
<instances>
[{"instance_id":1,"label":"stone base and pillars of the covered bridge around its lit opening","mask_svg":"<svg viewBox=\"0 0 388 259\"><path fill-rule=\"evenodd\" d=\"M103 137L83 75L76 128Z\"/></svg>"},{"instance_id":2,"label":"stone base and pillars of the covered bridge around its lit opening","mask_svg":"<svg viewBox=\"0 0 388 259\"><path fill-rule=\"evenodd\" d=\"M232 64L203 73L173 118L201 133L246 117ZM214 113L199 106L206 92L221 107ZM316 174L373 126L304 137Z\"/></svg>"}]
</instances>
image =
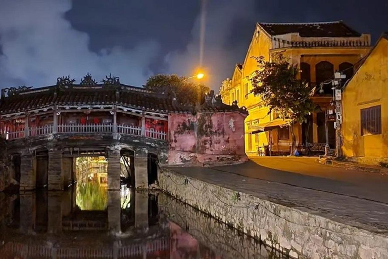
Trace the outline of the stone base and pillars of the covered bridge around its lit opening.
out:
<instances>
[{"instance_id":1,"label":"stone base and pillars of the covered bridge around its lit opening","mask_svg":"<svg viewBox=\"0 0 388 259\"><path fill-rule=\"evenodd\" d=\"M120 189L123 159L128 160L129 184L137 189L147 189L157 181L157 163L166 163L167 143L141 138L101 139L101 136L74 136L14 140L10 151L20 157L20 189L66 189L75 181L77 157L105 156L108 161L108 189ZM158 154L158 155L156 155ZM151 174L151 175L150 175Z\"/></svg>"}]
</instances>

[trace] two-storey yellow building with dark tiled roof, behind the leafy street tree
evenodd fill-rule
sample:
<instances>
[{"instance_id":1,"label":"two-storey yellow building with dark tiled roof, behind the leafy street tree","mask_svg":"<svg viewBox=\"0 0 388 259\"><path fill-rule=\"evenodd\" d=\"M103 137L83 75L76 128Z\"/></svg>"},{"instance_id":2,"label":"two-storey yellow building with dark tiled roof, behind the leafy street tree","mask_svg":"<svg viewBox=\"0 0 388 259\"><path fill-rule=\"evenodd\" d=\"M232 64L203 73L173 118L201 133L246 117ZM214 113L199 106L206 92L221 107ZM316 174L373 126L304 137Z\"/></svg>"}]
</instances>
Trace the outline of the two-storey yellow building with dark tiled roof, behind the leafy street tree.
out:
<instances>
[{"instance_id":1,"label":"two-storey yellow building with dark tiled roof, behind the leafy street tree","mask_svg":"<svg viewBox=\"0 0 388 259\"><path fill-rule=\"evenodd\" d=\"M249 111L245 134L247 154L256 154L259 148L272 155L289 154L292 144L289 128L283 127L285 121L276 114L268 114L268 108L260 106L260 97L249 94L251 78L258 69L252 57L264 56L269 61L273 53L282 52L290 63L299 65L305 81L319 86L332 78L335 70L345 70L350 78L353 65L369 50L370 35L360 34L342 21L257 23L244 63L235 66L232 78L224 80L220 89L224 103L237 101ZM331 85L318 87L312 100L317 104L317 112L308 116L307 123L294 125L298 150L304 154L307 153L306 146L310 147L311 153L323 152L326 132L330 147L335 145L334 122L329 121L333 116L326 116L334 110L330 105ZM264 132L256 134L258 130Z\"/></svg>"}]
</instances>

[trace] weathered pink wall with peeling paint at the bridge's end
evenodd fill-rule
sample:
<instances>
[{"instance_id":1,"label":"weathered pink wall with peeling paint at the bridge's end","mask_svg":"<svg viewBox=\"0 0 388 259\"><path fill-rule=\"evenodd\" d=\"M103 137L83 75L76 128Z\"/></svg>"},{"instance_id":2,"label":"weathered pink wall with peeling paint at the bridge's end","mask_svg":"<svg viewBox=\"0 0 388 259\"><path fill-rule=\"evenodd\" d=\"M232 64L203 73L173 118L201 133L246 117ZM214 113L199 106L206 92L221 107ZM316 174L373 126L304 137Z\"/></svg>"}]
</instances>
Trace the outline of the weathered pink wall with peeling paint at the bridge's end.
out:
<instances>
[{"instance_id":1,"label":"weathered pink wall with peeling paint at the bridge's end","mask_svg":"<svg viewBox=\"0 0 388 259\"><path fill-rule=\"evenodd\" d=\"M169 164L246 157L245 117L237 111L199 112L196 115L170 113Z\"/></svg>"}]
</instances>

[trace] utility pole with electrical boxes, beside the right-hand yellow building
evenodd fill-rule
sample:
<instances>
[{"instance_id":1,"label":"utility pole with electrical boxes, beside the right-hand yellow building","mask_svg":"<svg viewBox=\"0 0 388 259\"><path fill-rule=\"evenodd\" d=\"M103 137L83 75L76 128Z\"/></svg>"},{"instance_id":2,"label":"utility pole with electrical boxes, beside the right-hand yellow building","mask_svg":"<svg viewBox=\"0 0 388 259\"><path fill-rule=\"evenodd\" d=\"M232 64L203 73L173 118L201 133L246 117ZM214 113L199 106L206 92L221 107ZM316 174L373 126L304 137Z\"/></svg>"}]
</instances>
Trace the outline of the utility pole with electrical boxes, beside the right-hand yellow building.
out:
<instances>
[{"instance_id":1,"label":"utility pole with electrical boxes, beside the right-hand yellow building","mask_svg":"<svg viewBox=\"0 0 388 259\"><path fill-rule=\"evenodd\" d=\"M334 72L333 85L333 99L335 101L335 156L342 155L342 141L341 141L341 124L342 124L342 85L341 79L345 79L346 75L342 72Z\"/></svg>"}]
</instances>

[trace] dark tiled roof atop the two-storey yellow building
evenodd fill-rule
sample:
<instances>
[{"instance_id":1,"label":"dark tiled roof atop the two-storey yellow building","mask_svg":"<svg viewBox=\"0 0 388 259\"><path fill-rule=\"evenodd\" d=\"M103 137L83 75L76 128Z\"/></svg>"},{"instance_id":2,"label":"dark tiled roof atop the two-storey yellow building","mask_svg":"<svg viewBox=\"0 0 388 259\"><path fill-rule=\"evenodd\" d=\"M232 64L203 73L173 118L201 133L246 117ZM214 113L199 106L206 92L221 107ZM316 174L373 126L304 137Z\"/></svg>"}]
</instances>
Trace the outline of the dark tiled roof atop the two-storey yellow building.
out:
<instances>
[{"instance_id":1,"label":"dark tiled roof atop the two-storey yellow building","mask_svg":"<svg viewBox=\"0 0 388 259\"><path fill-rule=\"evenodd\" d=\"M301 37L359 37L361 34L343 21L313 23L258 23L270 35L299 32Z\"/></svg>"}]
</instances>

